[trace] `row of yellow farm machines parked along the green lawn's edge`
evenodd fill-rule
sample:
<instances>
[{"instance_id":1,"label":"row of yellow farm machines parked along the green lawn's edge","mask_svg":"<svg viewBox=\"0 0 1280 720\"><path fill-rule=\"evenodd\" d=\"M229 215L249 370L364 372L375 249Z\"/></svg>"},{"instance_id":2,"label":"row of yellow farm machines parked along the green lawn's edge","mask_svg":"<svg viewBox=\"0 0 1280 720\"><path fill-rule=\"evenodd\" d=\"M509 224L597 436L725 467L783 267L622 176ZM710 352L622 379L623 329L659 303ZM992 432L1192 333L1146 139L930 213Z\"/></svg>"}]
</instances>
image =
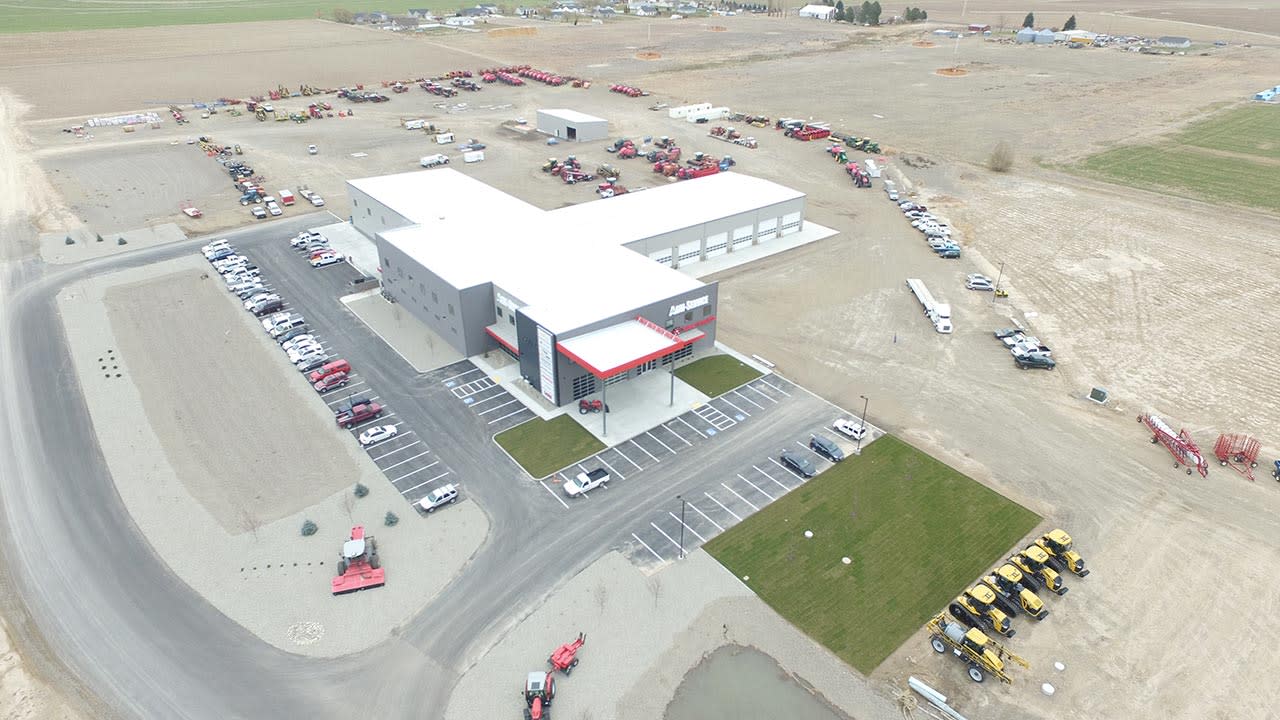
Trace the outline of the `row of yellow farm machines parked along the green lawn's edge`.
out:
<instances>
[{"instance_id":1,"label":"row of yellow farm machines parked along the green lawn's edge","mask_svg":"<svg viewBox=\"0 0 1280 720\"><path fill-rule=\"evenodd\" d=\"M938 653L950 651L959 657L975 683L988 675L1012 683L1007 662L1023 667L1030 665L988 633L1014 637L1011 620L1019 612L1037 621L1048 618L1048 609L1037 592L1066 594L1068 588L1060 575L1066 571L1079 578L1089 574L1084 559L1073 550L1071 536L1061 529L1050 530L983 575L951 601L946 611L931 619L927 624L929 644Z\"/></svg>"}]
</instances>

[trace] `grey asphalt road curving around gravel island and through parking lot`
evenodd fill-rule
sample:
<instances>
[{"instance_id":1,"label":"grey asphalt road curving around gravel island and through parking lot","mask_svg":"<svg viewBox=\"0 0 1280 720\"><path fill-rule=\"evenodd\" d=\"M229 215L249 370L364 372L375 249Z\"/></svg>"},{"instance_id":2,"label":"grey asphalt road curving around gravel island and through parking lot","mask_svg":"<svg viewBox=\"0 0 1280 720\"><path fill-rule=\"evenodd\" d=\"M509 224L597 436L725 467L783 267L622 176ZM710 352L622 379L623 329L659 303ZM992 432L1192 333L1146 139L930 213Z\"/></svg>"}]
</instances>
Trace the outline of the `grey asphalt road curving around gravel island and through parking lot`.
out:
<instances>
[{"instance_id":1,"label":"grey asphalt road curving around gravel island and through parking lot","mask_svg":"<svg viewBox=\"0 0 1280 720\"><path fill-rule=\"evenodd\" d=\"M9 264L0 275L0 497L6 544L22 552L8 553L8 570L51 655L111 714L329 717L347 715L352 697L367 700L370 717L444 707L460 674L525 609L600 553L634 544L636 518L666 511L708 478L732 477L741 457L758 454L751 448L790 442L829 413L796 393L705 451L673 455L643 479L594 496L590 515L564 523L559 500L521 479L493 446L490 418L449 387L456 369L416 373L337 301L349 291L347 270L314 272L287 247L288 234L324 222L293 218L229 237L439 455L489 515L492 533L467 571L397 638L337 660L262 643L169 573L138 536L96 445L54 304L74 279L195 252L202 240L70 268Z\"/></svg>"}]
</instances>

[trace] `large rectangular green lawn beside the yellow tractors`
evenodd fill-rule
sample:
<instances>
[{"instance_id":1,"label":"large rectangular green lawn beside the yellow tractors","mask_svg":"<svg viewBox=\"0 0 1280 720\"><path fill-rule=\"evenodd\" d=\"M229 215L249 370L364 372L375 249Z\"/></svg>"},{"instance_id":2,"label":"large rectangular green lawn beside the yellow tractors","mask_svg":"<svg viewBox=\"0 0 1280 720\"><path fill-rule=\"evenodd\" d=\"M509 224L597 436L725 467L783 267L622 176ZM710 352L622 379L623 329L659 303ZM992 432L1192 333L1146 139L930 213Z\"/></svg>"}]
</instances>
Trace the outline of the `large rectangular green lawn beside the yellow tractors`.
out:
<instances>
[{"instance_id":1,"label":"large rectangular green lawn beside the yellow tractors","mask_svg":"<svg viewBox=\"0 0 1280 720\"><path fill-rule=\"evenodd\" d=\"M1039 520L884 436L704 547L869 674ZM841 562L846 556L852 564Z\"/></svg>"}]
</instances>

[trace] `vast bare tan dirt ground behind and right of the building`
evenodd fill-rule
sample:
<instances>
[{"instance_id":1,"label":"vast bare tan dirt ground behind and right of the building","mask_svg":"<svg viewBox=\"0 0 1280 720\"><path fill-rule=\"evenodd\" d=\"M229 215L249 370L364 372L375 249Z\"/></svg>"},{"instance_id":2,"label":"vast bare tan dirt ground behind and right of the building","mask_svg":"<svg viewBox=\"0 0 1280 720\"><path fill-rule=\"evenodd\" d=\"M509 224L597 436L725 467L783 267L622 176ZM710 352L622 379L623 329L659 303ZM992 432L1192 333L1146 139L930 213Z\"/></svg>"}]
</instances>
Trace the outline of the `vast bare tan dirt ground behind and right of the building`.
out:
<instances>
[{"instance_id":1,"label":"vast bare tan dirt ground behind and right of the building","mask_svg":"<svg viewBox=\"0 0 1280 720\"><path fill-rule=\"evenodd\" d=\"M959 19L959 3L925 8L931 17L954 13ZM1101 32L1193 35L1188 28L1194 28L1105 15L1116 8L1101 0L1057 8L1037 15L1065 19L1078 12L1088 28L1085 12L1098 12L1100 23L1115 23L1114 29L1091 28ZM1190 3L1155 12L1166 9L1192 22L1210 12ZM1238 8L1221 10L1228 19L1247 18ZM1025 8L997 0L969 13L983 22L1007 14L1018 24ZM1144 29L1130 29L1137 26ZM1272 582L1280 568L1280 492L1265 478L1249 484L1216 466L1207 480L1187 479L1147 442L1134 415L1166 414L1202 447L1217 432L1253 432L1265 441L1265 456L1275 456L1280 360L1270 348L1274 323L1265 304L1277 273L1266 240L1274 218L1083 182L1041 163L1144 141L1275 85L1276 49L1252 36L1254 47L1231 46L1204 58L975 38L959 47L913 47L922 32L928 28L867 31L768 18L717 18L714 26L666 19L539 26L532 37L443 40L312 22L160 28L73 36L59 40L56 50L0 38L0 56L6 58L0 86L33 104L31 118L83 119L137 108L143 99L243 96L261 92L268 82L374 82L497 60L589 74L596 81L590 91L486 88L458 97L474 109L452 115L415 88L379 110L361 105L349 122L293 126L219 115L182 129L169 123L140 131L155 140L100 135L90 146L146 142L166 149L204 132L228 142L243 138L251 152L246 158L261 165L269 184L276 178L310 183L339 217L344 178L412 169L417 156L436 151L425 137L396 129L399 117L424 110L435 110L428 118L444 119L461 136L489 142L489 160L463 172L544 208L591 195L536 170L545 156L566 154L564 146L548 149L498 129L516 115L531 119L538 106L608 117L614 135L672 135L686 151L732 151L742 172L809 193L809 217L841 236L721 278L721 340L769 357L785 375L835 402L854 406L867 395L873 421L1060 523L1094 568L1088 579L1068 578L1066 597L1050 598L1050 620L1019 625L1012 644L1033 669L1016 674L1012 688L973 685L957 664L933 656L923 637L904 644L873 679L924 676L984 717L1267 716L1263 698L1277 689L1270 656L1280 632L1261 619L1280 602ZM1197 35L1213 40L1222 32L1202 28ZM229 61L251 50L253 63ZM662 58L639 60L640 51ZM101 63L95 61L99 55ZM952 64L969 74L936 74ZM268 82L260 72L265 67L273 69ZM110 86L96 79L115 76L120 81ZM608 82L657 95L627 100L607 92L602 85ZM47 87L63 90L50 94ZM820 143L760 129L753 131L762 141L756 151L722 146L703 140L700 128L645 110L653 100L813 117L872 135L886 146L890 165L908 173L918 197L950 217L964 259L934 258L879 184L854 191L822 156ZM13 106L5 102L0 109ZM55 158L74 142L59 132L61 124L26 126L37 152L49 152L40 158L45 167L73 163ZM998 141L1016 152L1006 176L982 168ZM307 142L320 143L321 154L306 156ZM193 152L184 145L178 150ZM580 154L584 161L605 159L598 149ZM132 173L129 163L143 167L146 155L136 156L110 172ZM916 156L933 165L905 167L906 158ZM622 182L640 177L653 182L631 167ZM56 174L52 182L60 183ZM228 183L209 197L209 227L247 218L230 192ZM122 220L151 217L142 204L128 213ZM155 210L164 213L173 209ZM1001 269L1011 291L1007 302L992 305L989 296L963 288L965 273L995 277ZM938 336L920 319L902 287L906 277L923 278L954 305L954 336ZM989 334L1011 318L1027 322L1055 348L1059 370L1014 368ZM1112 391L1110 407L1082 400L1092 386ZM1068 670L1051 670L1055 660ZM1059 692L1042 696L1042 682Z\"/></svg>"}]
</instances>

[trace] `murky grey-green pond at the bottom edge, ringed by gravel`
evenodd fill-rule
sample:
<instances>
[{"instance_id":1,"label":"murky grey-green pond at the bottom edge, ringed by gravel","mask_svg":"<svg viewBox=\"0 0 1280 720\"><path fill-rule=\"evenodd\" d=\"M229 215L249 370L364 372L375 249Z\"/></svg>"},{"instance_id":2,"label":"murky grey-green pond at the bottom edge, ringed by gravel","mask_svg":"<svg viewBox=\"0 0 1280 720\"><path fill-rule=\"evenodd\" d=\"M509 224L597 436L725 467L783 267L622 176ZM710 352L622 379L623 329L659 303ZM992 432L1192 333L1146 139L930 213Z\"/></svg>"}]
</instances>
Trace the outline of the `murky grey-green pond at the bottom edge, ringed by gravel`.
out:
<instances>
[{"instance_id":1,"label":"murky grey-green pond at the bottom edge, ringed by gravel","mask_svg":"<svg viewBox=\"0 0 1280 720\"><path fill-rule=\"evenodd\" d=\"M772 657L724 646L685 675L666 720L851 720L810 693Z\"/></svg>"}]
</instances>

